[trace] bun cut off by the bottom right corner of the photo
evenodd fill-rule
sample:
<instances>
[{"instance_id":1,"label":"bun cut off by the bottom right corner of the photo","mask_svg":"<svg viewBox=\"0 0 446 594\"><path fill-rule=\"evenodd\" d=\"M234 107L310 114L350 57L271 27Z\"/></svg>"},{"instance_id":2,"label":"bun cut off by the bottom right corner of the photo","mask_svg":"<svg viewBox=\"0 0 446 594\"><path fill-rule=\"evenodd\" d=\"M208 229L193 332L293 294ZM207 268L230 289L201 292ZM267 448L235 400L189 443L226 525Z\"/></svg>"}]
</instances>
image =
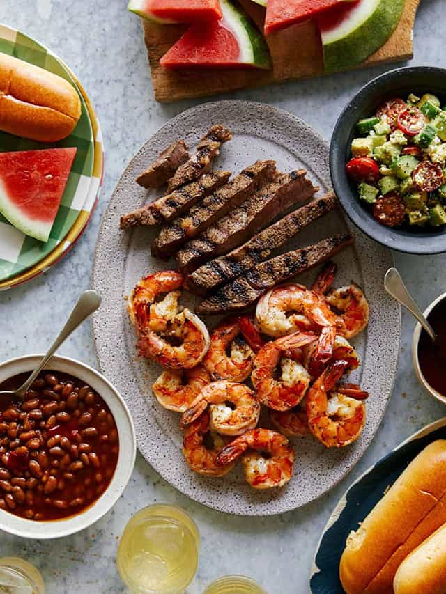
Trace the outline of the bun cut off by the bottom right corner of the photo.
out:
<instances>
[{"instance_id":1,"label":"bun cut off by the bottom right corner of the photo","mask_svg":"<svg viewBox=\"0 0 446 594\"><path fill-rule=\"evenodd\" d=\"M401 563L393 589L395 594L446 593L446 524Z\"/></svg>"}]
</instances>

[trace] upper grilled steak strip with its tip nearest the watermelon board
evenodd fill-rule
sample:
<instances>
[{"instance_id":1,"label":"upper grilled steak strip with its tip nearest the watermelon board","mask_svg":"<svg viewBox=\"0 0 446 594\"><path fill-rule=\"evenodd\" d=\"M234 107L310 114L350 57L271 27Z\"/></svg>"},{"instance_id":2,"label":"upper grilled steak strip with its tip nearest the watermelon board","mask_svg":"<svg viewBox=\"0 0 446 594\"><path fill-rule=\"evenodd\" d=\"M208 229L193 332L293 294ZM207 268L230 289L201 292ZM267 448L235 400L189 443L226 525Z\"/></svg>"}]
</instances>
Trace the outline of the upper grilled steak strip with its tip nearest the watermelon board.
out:
<instances>
[{"instance_id":1,"label":"upper grilled steak strip with its tip nearest the watermelon board","mask_svg":"<svg viewBox=\"0 0 446 594\"><path fill-rule=\"evenodd\" d=\"M212 166L213 159L220 153L222 143L232 139L232 133L222 124L210 128L205 136L199 141L197 153L190 157L183 165L178 167L176 173L167 184L167 193L197 180L202 173L207 173Z\"/></svg>"}]
</instances>

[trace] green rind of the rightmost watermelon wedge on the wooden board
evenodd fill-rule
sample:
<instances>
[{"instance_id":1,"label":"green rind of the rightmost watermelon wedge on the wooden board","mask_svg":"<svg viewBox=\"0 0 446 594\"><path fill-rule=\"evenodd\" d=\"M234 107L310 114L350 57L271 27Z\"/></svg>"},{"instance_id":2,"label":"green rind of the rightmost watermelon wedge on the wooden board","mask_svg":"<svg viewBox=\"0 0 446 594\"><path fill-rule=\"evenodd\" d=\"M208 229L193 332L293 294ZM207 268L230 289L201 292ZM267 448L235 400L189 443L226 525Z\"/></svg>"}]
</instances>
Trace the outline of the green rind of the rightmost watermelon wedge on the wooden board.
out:
<instances>
[{"instance_id":1,"label":"green rind of the rightmost watermelon wedge on the wooden board","mask_svg":"<svg viewBox=\"0 0 446 594\"><path fill-rule=\"evenodd\" d=\"M360 0L337 28L321 29L325 72L353 68L390 38L401 19L404 0Z\"/></svg>"}]
</instances>

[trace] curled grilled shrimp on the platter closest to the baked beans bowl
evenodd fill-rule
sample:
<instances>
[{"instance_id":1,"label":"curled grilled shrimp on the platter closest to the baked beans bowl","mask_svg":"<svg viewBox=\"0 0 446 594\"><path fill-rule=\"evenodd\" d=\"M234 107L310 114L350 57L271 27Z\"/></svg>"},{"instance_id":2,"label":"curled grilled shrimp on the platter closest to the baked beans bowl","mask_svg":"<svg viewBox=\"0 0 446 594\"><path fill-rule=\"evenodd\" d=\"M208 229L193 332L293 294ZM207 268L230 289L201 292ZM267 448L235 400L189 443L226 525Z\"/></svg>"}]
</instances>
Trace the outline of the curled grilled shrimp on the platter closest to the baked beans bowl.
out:
<instances>
[{"instance_id":1,"label":"curled grilled shrimp on the platter closest to the baked beans bowl","mask_svg":"<svg viewBox=\"0 0 446 594\"><path fill-rule=\"evenodd\" d=\"M185 412L197 394L210 383L210 377L202 365L193 369L163 371L152 386L160 405L175 412Z\"/></svg>"}]
</instances>

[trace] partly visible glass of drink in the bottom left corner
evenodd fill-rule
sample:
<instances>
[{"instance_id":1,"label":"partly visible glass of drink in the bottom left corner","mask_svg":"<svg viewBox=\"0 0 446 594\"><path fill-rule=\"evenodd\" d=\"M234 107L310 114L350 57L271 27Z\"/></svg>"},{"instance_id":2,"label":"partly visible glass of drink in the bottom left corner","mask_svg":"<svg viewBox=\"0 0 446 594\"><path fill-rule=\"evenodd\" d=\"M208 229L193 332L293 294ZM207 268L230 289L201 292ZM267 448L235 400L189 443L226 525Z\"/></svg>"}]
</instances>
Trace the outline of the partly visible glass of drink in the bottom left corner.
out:
<instances>
[{"instance_id":1,"label":"partly visible glass of drink in the bottom left corner","mask_svg":"<svg viewBox=\"0 0 446 594\"><path fill-rule=\"evenodd\" d=\"M18 557L0 558L0 592L8 594L45 594L40 572Z\"/></svg>"}]
</instances>

